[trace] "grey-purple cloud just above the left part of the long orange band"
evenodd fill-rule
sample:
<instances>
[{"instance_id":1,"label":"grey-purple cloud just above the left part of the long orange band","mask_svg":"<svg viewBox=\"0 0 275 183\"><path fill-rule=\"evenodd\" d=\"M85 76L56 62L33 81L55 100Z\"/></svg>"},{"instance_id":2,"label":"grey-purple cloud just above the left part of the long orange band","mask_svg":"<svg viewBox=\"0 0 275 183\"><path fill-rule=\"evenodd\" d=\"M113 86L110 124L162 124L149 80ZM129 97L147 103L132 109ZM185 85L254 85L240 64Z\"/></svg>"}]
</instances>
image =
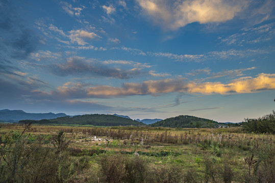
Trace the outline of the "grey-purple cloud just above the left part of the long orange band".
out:
<instances>
[{"instance_id":1,"label":"grey-purple cloud just above the left part of the long orange band","mask_svg":"<svg viewBox=\"0 0 275 183\"><path fill-rule=\"evenodd\" d=\"M129 79L133 76L144 74L140 68L131 70L123 70L119 68L110 68L95 60L85 60L83 57L70 57L64 64L53 64L42 66L48 68L52 73L58 76L68 75L90 75L90 76L103 76L118 79Z\"/></svg>"}]
</instances>

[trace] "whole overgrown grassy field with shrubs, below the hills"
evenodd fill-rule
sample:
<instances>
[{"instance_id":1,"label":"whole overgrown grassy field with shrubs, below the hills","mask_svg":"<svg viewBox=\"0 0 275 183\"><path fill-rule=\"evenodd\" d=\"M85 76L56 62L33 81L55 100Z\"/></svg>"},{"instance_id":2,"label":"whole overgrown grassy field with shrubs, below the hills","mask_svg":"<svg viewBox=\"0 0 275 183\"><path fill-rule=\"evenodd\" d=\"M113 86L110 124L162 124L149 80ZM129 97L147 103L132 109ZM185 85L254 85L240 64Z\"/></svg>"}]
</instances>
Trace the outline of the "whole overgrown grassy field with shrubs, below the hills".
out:
<instances>
[{"instance_id":1,"label":"whole overgrown grassy field with shrubs, below the hills","mask_svg":"<svg viewBox=\"0 0 275 183\"><path fill-rule=\"evenodd\" d=\"M275 136L241 127L0 125L0 182L272 182Z\"/></svg>"}]
</instances>

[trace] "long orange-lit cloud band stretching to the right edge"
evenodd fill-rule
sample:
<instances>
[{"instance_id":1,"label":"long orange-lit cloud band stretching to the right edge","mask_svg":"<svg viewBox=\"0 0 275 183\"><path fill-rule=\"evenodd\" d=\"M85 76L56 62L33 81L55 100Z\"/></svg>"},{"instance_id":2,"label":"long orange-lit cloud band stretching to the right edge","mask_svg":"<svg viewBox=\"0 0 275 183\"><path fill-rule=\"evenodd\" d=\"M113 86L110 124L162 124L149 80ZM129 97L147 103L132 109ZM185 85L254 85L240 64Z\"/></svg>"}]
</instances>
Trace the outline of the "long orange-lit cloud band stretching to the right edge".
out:
<instances>
[{"instance_id":1,"label":"long orange-lit cloud band stretching to the right edge","mask_svg":"<svg viewBox=\"0 0 275 183\"><path fill-rule=\"evenodd\" d=\"M275 74L258 74L257 77L245 77L228 84L220 82L194 82L183 79L147 80L142 83L124 83L121 87L98 85L85 86L81 83L67 83L58 87L57 92L41 95L69 98L113 98L134 95L159 95L173 92L189 94L242 94L275 89ZM39 93L39 91L36 91Z\"/></svg>"}]
</instances>

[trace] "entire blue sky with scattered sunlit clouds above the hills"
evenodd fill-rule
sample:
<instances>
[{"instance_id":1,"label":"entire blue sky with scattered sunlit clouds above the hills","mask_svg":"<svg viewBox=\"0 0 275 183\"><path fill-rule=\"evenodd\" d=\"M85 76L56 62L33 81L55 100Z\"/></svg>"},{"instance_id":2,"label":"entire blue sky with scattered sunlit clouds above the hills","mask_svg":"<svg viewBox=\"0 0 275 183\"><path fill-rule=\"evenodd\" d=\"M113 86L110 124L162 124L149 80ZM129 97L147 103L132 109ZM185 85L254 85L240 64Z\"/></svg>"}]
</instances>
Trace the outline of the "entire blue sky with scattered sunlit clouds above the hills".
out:
<instances>
[{"instance_id":1,"label":"entire blue sky with scattered sunlit clouds above the hills","mask_svg":"<svg viewBox=\"0 0 275 183\"><path fill-rule=\"evenodd\" d=\"M274 99L274 0L0 1L0 109L240 122Z\"/></svg>"}]
</instances>

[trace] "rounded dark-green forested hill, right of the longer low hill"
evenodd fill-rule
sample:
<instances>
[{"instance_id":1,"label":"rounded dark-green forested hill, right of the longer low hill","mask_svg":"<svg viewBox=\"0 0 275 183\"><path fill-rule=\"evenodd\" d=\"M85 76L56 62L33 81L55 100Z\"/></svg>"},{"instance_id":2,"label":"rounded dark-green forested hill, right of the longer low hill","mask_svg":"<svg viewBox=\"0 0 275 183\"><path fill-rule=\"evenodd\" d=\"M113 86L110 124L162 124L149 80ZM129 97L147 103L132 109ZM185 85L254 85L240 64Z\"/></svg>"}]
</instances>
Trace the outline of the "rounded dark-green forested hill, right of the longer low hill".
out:
<instances>
[{"instance_id":1,"label":"rounded dark-green forested hill, right of the longer low hill","mask_svg":"<svg viewBox=\"0 0 275 183\"><path fill-rule=\"evenodd\" d=\"M170 128L212 128L218 125L217 121L211 119L189 116L189 115L180 115L177 117L170 117L161 121L158 121L154 124L151 124L152 127L170 127Z\"/></svg>"}]
</instances>

